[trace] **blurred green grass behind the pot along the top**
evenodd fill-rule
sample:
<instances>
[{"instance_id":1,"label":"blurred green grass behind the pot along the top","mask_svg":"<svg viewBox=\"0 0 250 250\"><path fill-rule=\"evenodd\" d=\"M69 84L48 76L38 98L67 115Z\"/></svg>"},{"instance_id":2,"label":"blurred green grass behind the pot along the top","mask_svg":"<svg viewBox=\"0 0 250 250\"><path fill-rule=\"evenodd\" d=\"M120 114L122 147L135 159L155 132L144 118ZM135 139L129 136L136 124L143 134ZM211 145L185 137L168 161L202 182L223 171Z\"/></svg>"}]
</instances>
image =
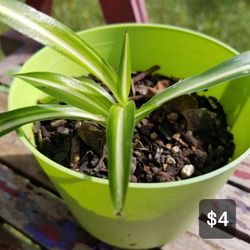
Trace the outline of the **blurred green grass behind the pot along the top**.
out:
<instances>
[{"instance_id":1,"label":"blurred green grass behind the pot along the top","mask_svg":"<svg viewBox=\"0 0 250 250\"><path fill-rule=\"evenodd\" d=\"M145 0L149 21L206 33L239 51L250 50L250 0ZM54 0L56 19L73 30L104 25L98 0ZM0 26L0 33L8 30Z\"/></svg>"}]
</instances>

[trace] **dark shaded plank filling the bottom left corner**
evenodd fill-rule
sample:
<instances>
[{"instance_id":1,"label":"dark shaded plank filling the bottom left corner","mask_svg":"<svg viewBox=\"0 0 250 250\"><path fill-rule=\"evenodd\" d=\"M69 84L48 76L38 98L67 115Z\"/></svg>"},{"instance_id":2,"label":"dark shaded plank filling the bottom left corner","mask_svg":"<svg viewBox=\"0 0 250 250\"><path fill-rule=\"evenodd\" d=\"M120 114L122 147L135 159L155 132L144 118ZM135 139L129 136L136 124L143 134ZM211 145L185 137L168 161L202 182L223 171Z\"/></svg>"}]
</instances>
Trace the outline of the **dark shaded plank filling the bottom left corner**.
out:
<instances>
[{"instance_id":1,"label":"dark shaded plank filling the bottom left corner","mask_svg":"<svg viewBox=\"0 0 250 250\"><path fill-rule=\"evenodd\" d=\"M22 237L22 236L21 236ZM35 245L31 241L24 240L20 234L17 235L9 227L0 225L0 249L1 250L39 250L38 245Z\"/></svg>"}]
</instances>

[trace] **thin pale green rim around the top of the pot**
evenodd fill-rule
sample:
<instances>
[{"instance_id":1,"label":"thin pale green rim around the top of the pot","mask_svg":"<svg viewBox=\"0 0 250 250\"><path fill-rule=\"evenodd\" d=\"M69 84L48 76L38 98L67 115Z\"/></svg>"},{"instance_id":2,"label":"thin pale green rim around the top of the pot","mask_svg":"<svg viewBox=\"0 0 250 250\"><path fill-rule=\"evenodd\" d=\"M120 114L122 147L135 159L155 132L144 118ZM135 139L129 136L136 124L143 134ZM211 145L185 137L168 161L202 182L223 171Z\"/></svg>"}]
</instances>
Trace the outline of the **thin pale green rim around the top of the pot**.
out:
<instances>
[{"instance_id":1,"label":"thin pale green rim around the top of the pot","mask_svg":"<svg viewBox=\"0 0 250 250\"><path fill-rule=\"evenodd\" d=\"M234 54L238 54L239 52L235 49L233 49L232 47L230 47L229 45L221 42L220 40L213 38L209 35L205 35L203 33L197 32L197 31L193 31L191 29L188 28L181 28L181 27L177 27L177 26L173 26L173 25L164 25L164 24L137 24L137 23L124 23L124 24L112 24L112 25L104 25L104 26L100 26L100 27L96 27L96 28L90 28L87 30L83 30L78 32L79 34L82 33L88 33L88 32L98 32L99 30L108 30L108 29L114 29L114 28L129 28L129 27L138 27L138 28L158 28L158 29L168 29L168 30L175 30L175 31L180 31L180 32L184 32L190 35L193 35L195 37L199 37L199 38L203 38L205 40L209 40L211 42L215 42L217 45L220 45L226 49L228 49L229 51L233 52ZM44 53L46 52L46 50L48 50L48 47L44 47L41 50L39 50L37 53L35 53L26 63L25 66L28 64L32 64L32 61L34 60L35 56L40 54L40 53ZM14 84L13 84L14 85ZM12 89L12 88L11 88ZM10 91L10 95L9 95L9 108L12 109L12 100L14 99L13 96L13 92ZM49 159L48 157L46 157L45 155L43 155L42 153L40 153L29 141L29 139L26 137L24 131L22 128L18 128L17 129L17 134L19 136L19 138L21 139L21 141L25 144L25 146L35 155L37 156L39 159L41 159L42 161L47 162L49 165L55 167L56 169L69 174L71 177L76 177L78 179L82 179L82 180L89 180L92 181L94 183L98 183L98 184L103 184L103 185L108 185L108 180L107 179L101 179L101 178L97 178L97 177L93 177L93 176L89 176L83 173L78 173L74 170L68 169L54 161L52 161L51 159ZM168 187L178 187L178 186L185 186L185 185L191 185L194 183L198 183L198 182L202 182L208 179L211 179L217 175L222 174L223 172L235 167L236 165L238 165L243 159L245 159L247 157L247 155L250 153L250 148L247 149L244 153L242 153L239 157L237 157L236 159L234 159L233 161L229 162L228 164L226 164L225 166L214 170L210 173L207 174L203 174L201 176L197 176L197 177L193 177L190 179L186 179L186 180L180 180L180 181L172 181L172 182L161 182L161 183L129 183L129 187L130 188L136 188L136 189L148 189L148 188L168 188Z\"/></svg>"}]
</instances>

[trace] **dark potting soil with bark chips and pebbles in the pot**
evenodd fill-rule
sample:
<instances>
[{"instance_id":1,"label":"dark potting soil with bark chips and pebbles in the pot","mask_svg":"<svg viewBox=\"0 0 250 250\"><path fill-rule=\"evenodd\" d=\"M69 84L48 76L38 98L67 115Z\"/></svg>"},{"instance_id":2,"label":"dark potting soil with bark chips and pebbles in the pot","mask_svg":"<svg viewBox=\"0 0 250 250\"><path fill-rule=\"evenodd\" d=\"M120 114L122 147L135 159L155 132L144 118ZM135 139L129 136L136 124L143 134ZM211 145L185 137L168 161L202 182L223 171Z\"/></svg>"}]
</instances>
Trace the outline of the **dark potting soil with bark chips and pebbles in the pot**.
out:
<instances>
[{"instance_id":1,"label":"dark potting soil with bark chips and pebbles in the pot","mask_svg":"<svg viewBox=\"0 0 250 250\"><path fill-rule=\"evenodd\" d=\"M141 106L178 79L154 73L132 75L130 98ZM96 80L93 76L92 79ZM53 120L34 124L37 148L55 162L107 178L105 129L89 121ZM131 182L166 182L199 176L225 165L234 152L226 114L214 97L178 97L137 124Z\"/></svg>"}]
</instances>

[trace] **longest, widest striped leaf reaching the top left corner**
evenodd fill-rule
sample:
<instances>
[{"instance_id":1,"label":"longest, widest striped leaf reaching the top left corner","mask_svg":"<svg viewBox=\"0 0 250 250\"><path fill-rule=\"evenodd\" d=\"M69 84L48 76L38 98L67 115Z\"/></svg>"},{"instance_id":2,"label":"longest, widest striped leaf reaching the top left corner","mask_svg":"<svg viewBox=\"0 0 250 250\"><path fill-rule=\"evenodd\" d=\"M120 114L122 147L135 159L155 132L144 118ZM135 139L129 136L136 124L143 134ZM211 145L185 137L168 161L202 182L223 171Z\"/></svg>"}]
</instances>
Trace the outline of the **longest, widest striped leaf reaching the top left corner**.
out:
<instances>
[{"instance_id":1,"label":"longest, widest striped leaf reaching the top left corner","mask_svg":"<svg viewBox=\"0 0 250 250\"><path fill-rule=\"evenodd\" d=\"M62 23L15 0L0 0L0 21L83 66L116 95L114 69Z\"/></svg>"}]
</instances>

